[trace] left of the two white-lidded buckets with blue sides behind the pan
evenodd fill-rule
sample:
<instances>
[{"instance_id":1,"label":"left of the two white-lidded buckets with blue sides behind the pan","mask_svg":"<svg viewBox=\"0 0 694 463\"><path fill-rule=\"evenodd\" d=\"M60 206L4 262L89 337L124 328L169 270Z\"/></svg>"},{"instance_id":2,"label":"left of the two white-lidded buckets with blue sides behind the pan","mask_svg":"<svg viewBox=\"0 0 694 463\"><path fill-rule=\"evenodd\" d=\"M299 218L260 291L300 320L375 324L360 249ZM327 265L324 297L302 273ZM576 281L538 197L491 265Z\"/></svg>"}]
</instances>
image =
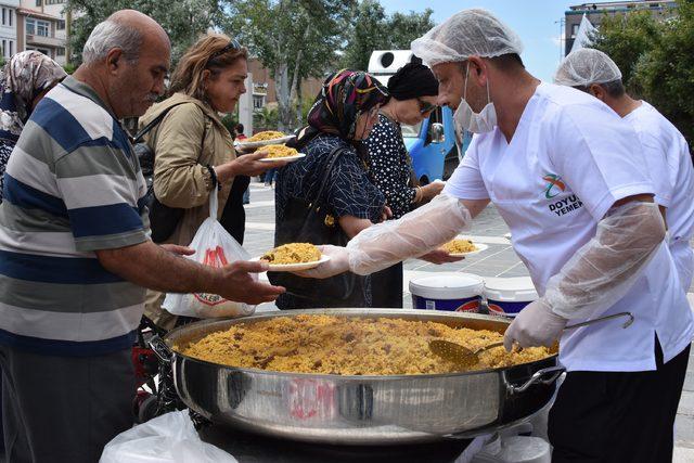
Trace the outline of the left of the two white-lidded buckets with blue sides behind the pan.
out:
<instances>
[{"instance_id":1,"label":"left of the two white-lidded buckets with blue sides behind the pan","mask_svg":"<svg viewBox=\"0 0 694 463\"><path fill-rule=\"evenodd\" d=\"M410 280L414 309L478 312L483 290L484 280L472 273L437 273Z\"/></svg>"}]
</instances>

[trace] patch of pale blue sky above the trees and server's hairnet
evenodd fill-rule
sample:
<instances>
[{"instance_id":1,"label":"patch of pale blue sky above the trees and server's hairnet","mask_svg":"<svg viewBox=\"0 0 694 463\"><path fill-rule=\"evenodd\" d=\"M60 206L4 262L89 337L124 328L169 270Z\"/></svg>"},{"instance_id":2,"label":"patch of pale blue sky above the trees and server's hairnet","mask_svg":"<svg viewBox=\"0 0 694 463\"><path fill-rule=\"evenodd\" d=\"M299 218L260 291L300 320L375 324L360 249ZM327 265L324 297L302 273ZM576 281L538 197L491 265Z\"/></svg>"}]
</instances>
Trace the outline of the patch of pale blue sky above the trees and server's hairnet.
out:
<instances>
[{"instance_id":1,"label":"patch of pale blue sky above the trees and server's hairnet","mask_svg":"<svg viewBox=\"0 0 694 463\"><path fill-rule=\"evenodd\" d=\"M434 10L433 20L440 24L451 15L467 8L484 8L491 11L520 36L523 62L536 77L551 81L560 64L564 43L564 12L568 5L588 0L381 0L388 14L410 11Z\"/></svg>"}]
</instances>

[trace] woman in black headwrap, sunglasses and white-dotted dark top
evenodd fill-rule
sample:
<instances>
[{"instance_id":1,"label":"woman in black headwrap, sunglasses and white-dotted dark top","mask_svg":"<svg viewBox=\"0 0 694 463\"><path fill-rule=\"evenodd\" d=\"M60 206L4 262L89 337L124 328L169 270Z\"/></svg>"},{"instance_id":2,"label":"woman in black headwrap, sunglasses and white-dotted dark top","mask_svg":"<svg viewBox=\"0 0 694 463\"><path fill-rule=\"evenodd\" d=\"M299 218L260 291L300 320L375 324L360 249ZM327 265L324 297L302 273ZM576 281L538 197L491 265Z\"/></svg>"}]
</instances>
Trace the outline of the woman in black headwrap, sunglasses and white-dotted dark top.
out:
<instances>
[{"instance_id":1,"label":"woman in black headwrap, sunglasses and white-dotted dark top","mask_svg":"<svg viewBox=\"0 0 694 463\"><path fill-rule=\"evenodd\" d=\"M388 102L381 107L378 124L364 145L369 167L376 187L386 196L393 218L399 219L421 204L428 203L444 189L434 182L420 187L412 170L412 159L402 140L401 124L420 124L436 110L438 81L432 69L410 63L388 80ZM426 260L453 261L447 256L428 256ZM402 263L371 275L373 307L402 307Z\"/></svg>"}]
</instances>

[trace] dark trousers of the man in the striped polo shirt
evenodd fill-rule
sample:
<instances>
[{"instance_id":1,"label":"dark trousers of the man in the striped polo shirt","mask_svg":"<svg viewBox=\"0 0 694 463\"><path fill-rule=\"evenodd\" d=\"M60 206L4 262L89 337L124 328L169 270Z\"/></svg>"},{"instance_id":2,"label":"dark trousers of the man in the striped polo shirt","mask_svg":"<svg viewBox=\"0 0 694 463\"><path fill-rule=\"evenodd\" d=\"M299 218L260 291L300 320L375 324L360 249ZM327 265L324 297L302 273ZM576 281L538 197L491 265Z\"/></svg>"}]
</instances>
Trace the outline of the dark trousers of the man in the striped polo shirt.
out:
<instances>
[{"instance_id":1,"label":"dark trousers of the man in the striped polo shirt","mask_svg":"<svg viewBox=\"0 0 694 463\"><path fill-rule=\"evenodd\" d=\"M95 463L132 426L131 349L54 357L0 345L0 366L9 463Z\"/></svg>"}]
</instances>

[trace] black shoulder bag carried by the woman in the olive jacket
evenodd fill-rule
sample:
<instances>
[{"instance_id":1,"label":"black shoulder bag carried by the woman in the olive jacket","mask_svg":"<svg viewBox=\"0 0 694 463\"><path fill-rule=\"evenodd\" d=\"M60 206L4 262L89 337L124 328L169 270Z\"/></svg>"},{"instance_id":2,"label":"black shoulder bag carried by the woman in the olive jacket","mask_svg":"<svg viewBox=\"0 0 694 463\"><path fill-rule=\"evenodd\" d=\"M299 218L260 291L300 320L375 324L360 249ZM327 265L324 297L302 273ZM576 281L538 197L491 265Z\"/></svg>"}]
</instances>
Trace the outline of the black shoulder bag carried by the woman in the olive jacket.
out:
<instances>
[{"instance_id":1,"label":"black shoulder bag carried by the woman in the olive jacket","mask_svg":"<svg viewBox=\"0 0 694 463\"><path fill-rule=\"evenodd\" d=\"M169 207L166 204L163 204L159 200L157 200L154 194L154 157L155 153L152 147L147 143L142 141L142 138L154 127L156 127L164 117L171 111L174 107L188 103L181 102L174 104L166 110L164 110L158 116L156 116L153 120L150 121L146 126L142 128L132 139L133 149L138 160L140 162L140 168L142 169L142 175L144 176L144 180L147 187L147 192L143 197L143 203L147 206L149 217L150 217L150 229L152 230L152 241L155 243L163 243L168 240L174 232L176 231L176 227L181 221L185 209L180 207ZM205 125L205 128L207 126ZM202 145L205 144L205 131L203 132L203 141ZM202 153L202 151L201 151Z\"/></svg>"}]
</instances>

